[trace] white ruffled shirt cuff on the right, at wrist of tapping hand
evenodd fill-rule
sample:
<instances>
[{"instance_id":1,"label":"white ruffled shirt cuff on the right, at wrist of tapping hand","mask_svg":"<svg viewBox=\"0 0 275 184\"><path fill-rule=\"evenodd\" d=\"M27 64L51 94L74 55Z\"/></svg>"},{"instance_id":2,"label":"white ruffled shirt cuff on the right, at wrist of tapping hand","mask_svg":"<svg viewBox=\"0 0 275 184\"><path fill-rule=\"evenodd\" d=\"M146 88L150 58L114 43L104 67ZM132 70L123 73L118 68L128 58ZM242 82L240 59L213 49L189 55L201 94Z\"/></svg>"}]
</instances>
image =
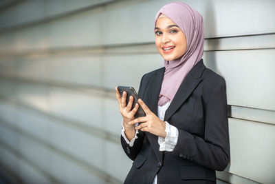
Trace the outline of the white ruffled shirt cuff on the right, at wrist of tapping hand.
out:
<instances>
[{"instance_id":1,"label":"white ruffled shirt cuff on the right, at wrist of tapping hand","mask_svg":"<svg viewBox=\"0 0 275 184\"><path fill-rule=\"evenodd\" d=\"M177 138L179 136L179 130L177 127L170 125L167 121L164 122L166 137L159 136L159 151L173 152L175 145L177 145Z\"/></svg>"}]
</instances>

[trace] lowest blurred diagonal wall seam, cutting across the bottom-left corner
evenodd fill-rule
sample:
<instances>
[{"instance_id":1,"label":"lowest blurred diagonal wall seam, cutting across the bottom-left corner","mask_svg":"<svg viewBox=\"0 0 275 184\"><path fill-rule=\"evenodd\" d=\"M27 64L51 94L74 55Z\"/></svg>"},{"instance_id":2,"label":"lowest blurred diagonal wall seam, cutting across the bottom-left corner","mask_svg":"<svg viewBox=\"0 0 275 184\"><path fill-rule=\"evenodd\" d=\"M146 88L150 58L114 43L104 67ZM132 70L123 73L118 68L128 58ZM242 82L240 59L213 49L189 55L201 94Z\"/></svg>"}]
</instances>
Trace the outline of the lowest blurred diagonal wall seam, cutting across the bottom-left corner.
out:
<instances>
[{"instance_id":1,"label":"lowest blurred diagonal wall seam, cutting across the bottom-left corner","mask_svg":"<svg viewBox=\"0 0 275 184\"><path fill-rule=\"evenodd\" d=\"M1 124L3 124L0 121ZM54 176L52 176L51 174L49 174L48 172L46 172L45 170L41 169L41 167L39 167L38 165L36 165L33 161L31 161L30 159L26 158L23 154L21 154L19 151L14 150L13 147L11 147L10 145L8 145L7 143L4 143L3 141L1 141L0 139L0 145L5 147L6 150L8 150L9 152L12 152L12 154L14 154L15 156L17 156L17 158L22 159L23 161L25 161L25 163L28 163L28 165L31 165L35 170L37 170L38 172L40 172L43 176L46 176L46 178L50 179L50 181L52 183L63 183L61 181L58 181L57 178L55 178Z\"/></svg>"}]
</instances>

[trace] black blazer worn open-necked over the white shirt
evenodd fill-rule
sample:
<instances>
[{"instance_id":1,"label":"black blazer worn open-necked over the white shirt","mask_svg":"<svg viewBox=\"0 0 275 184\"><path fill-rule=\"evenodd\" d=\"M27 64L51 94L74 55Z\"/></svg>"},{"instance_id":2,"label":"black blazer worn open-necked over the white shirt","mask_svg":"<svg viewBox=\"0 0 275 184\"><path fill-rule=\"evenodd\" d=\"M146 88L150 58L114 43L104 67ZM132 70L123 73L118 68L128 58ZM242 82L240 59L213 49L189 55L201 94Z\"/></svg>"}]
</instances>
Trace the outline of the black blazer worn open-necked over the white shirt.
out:
<instances>
[{"instance_id":1,"label":"black blazer worn open-necked over the white shirt","mask_svg":"<svg viewBox=\"0 0 275 184\"><path fill-rule=\"evenodd\" d=\"M142 76L138 95L157 115L157 102L164 76L160 68ZM225 80L199 61L179 86L164 121L179 130L173 152L160 152L158 137L137 134L130 147L121 137L124 152L133 166L124 183L216 183L215 170L230 161Z\"/></svg>"}]
</instances>

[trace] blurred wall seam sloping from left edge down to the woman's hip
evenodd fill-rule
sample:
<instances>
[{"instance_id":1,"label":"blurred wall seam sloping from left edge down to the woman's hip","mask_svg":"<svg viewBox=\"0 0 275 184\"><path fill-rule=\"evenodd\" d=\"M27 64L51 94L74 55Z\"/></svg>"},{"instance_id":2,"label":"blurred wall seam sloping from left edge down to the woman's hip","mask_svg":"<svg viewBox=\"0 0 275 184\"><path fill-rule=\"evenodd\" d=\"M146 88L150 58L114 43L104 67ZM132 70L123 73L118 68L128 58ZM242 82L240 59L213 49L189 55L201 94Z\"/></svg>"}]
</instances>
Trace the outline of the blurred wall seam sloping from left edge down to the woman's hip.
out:
<instances>
[{"instance_id":1,"label":"blurred wall seam sloping from left edge down to the woman's hip","mask_svg":"<svg viewBox=\"0 0 275 184\"><path fill-rule=\"evenodd\" d=\"M58 148L50 143L47 143L47 142L43 141L42 139L39 139L38 137L29 134L28 132L25 132L24 130L19 130L18 127L14 127L14 125L11 125L11 123L2 121L1 119L0 119L0 123L2 125L4 125L5 127L7 127L8 129L10 129L11 131L16 132L17 134L21 134L21 135L27 137L28 139L31 139L32 141L39 143L40 145L43 145L43 147L46 147L47 149L52 150L56 154L59 154L63 158L67 159L68 161L71 161L72 163L79 165L84 170L87 170L88 172L95 174L96 176L102 178L106 182L122 183L122 181L118 180L117 178L114 178L107 172L100 170L98 167L88 164L86 161L82 161L82 160L76 158L75 156L72 156L72 154L69 154L69 153L63 151L60 148Z\"/></svg>"}]
</instances>

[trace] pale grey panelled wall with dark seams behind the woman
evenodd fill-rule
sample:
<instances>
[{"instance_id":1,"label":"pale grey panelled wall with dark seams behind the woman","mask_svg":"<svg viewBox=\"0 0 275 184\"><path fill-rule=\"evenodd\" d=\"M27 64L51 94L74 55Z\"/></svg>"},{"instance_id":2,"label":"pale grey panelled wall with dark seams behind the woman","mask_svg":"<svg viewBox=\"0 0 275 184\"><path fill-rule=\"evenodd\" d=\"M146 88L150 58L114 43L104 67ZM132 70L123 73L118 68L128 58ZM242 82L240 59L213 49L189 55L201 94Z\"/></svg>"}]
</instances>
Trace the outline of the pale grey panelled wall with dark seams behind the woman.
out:
<instances>
[{"instance_id":1,"label":"pale grey panelled wall with dark seams behind the woman","mask_svg":"<svg viewBox=\"0 0 275 184\"><path fill-rule=\"evenodd\" d=\"M116 85L163 66L169 1L0 1L0 183L122 183ZM275 1L186 0L227 83L231 162L217 183L275 183Z\"/></svg>"}]
</instances>

